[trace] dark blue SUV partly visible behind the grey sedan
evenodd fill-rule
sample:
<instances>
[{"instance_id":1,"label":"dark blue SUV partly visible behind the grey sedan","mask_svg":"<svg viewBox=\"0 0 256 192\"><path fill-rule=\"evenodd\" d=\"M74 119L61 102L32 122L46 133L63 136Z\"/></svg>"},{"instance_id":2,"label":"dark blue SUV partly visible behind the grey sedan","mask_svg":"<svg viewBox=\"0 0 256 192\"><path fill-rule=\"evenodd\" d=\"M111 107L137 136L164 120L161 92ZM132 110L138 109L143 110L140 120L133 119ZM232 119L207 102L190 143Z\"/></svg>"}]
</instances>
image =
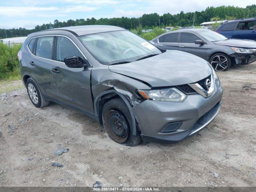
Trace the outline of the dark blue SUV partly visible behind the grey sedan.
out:
<instances>
[{"instance_id":1,"label":"dark blue SUV partly visible behind the grey sedan","mask_svg":"<svg viewBox=\"0 0 256 192\"><path fill-rule=\"evenodd\" d=\"M226 38L256 41L256 18L238 19L222 23L216 30Z\"/></svg>"}]
</instances>

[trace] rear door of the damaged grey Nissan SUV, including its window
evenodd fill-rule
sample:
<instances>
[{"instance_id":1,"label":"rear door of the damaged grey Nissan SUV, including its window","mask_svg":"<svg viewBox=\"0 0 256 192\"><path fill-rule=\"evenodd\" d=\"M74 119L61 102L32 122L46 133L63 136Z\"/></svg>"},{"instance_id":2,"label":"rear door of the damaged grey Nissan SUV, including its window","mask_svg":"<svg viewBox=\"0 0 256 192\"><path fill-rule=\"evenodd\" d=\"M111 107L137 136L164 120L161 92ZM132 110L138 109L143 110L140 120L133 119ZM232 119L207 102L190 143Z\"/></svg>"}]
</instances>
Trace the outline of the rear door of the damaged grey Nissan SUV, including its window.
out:
<instances>
[{"instance_id":1,"label":"rear door of the damaged grey Nissan SUV, including its window","mask_svg":"<svg viewBox=\"0 0 256 192\"><path fill-rule=\"evenodd\" d=\"M51 95L51 68L53 36L32 38L28 44L31 53L29 73L36 80L42 94ZM34 44L34 46L32 46Z\"/></svg>"}]
</instances>

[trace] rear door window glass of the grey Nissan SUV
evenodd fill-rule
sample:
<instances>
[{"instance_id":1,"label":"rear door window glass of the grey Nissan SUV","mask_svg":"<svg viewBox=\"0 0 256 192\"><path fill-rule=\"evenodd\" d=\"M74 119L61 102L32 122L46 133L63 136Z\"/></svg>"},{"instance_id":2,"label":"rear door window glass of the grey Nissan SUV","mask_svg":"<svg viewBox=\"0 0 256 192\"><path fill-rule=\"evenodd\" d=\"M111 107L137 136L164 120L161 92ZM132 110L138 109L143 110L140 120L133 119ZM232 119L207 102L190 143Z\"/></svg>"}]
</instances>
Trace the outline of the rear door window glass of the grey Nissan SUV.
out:
<instances>
[{"instance_id":1,"label":"rear door window glass of the grey Nissan SUV","mask_svg":"<svg viewBox=\"0 0 256 192\"><path fill-rule=\"evenodd\" d=\"M36 42L36 56L52 59L53 37L39 37Z\"/></svg>"}]
</instances>

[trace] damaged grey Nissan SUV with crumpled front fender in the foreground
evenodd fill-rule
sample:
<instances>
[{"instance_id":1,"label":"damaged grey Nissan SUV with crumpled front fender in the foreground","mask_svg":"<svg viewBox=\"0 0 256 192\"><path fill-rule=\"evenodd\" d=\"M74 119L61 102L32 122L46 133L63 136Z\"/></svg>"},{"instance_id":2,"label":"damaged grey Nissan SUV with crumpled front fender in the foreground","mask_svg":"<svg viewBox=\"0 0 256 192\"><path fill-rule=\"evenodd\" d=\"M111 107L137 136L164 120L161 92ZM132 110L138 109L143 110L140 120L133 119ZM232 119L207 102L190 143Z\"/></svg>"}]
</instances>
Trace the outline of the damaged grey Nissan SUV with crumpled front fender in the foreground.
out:
<instances>
[{"instance_id":1,"label":"damaged grey Nissan SUV with crumpled front fender in the foreground","mask_svg":"<svg viewBox=\"0 0 256 192\"><path fill-rule=\"evenodd\" d=\"M34 106L57 102L80 110L120 144L178 142L220 109L222 88L208 62L158 49L120 27L32 33L18 58Z\"/></svg>"}]
</instances>

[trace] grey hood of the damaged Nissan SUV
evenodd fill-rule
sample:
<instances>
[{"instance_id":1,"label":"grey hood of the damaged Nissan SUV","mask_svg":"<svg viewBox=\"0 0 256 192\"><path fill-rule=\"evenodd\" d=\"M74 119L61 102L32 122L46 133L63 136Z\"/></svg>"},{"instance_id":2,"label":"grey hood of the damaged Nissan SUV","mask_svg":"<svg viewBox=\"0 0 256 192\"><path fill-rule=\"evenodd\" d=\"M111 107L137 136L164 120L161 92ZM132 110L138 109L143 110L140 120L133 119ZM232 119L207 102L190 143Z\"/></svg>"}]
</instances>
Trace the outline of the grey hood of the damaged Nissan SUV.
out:
<instances>
[{"instance_id":1,"label":"grey hood of the damaged Nissan SUV","mask_svg":"<svg viewBox=\"0 0 256 192\"><path fill-rule=\"evenodd\" d=\"M150 84L152 87L194 83L212 73L206 60L190 53L166 52L126 64L110 65L109 70Z\"/></svg>"}]
</instances>

